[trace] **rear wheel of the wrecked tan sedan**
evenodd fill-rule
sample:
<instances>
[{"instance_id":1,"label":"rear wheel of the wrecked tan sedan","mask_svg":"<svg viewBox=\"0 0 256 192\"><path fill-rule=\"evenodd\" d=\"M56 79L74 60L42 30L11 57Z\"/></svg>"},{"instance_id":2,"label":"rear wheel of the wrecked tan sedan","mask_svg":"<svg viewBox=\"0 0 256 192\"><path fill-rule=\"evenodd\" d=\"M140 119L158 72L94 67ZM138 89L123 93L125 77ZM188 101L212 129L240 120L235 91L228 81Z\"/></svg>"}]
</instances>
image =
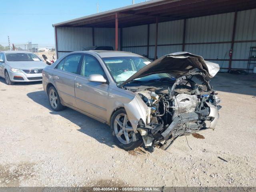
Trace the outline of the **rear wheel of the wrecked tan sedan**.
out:
<instances>
[{"instance_id":1,"label":"rear wheel of the wrecked tan sedan","mask_svg":"<svg viewBox=\"0 0 256 192\"><path fill-rule=\"evenodd\" d=\"M61 111L65 108L65 106L63 106L60 103L60 96L59 96L57 90L53 86L51 86L48 89L48 98L49 98L49 102L50 102L50 106L51 106L52 110Z\"/></svg>"}]
</instances>

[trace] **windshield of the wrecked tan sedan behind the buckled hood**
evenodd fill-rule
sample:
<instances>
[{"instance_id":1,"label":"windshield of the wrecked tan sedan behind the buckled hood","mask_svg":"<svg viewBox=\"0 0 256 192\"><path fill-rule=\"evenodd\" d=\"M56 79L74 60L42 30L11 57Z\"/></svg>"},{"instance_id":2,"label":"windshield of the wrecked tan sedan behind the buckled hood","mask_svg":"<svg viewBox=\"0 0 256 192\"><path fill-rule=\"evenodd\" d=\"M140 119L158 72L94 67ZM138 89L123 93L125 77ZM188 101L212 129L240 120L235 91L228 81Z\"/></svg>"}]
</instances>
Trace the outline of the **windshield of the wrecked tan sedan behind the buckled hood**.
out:
<instances>
[{"instance_id":1,"label":"windshield of the wrecked tan sedan behind the buckled hood","mask_svg":"<svg viewBox=\"0 0 256 192\"><path fill-rule=\"evenodd\" d=\"M144 57L102 58L117 83L124 82L151 61Z\"/></svg>"}]
</instances>

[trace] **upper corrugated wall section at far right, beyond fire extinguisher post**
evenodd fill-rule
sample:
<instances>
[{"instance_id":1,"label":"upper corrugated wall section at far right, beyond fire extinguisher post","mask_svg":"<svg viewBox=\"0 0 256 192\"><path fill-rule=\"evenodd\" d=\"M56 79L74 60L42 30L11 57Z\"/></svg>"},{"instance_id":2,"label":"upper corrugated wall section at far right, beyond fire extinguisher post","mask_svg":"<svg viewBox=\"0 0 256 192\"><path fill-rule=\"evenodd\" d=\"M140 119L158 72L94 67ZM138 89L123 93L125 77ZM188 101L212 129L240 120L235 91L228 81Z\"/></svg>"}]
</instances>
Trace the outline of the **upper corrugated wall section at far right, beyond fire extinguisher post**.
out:
<instances>
[{"instance_id":1,"label":"upper corrugated wall section at far right, beyond fire extinguisher post","mask_svg":"<svg viewBox=\"0 0 256 192\"><path fill-rule=\"evenodd\" d=\"M256 9L237 13L235 41L256 40Z\"/></svg>"}]
</instances>

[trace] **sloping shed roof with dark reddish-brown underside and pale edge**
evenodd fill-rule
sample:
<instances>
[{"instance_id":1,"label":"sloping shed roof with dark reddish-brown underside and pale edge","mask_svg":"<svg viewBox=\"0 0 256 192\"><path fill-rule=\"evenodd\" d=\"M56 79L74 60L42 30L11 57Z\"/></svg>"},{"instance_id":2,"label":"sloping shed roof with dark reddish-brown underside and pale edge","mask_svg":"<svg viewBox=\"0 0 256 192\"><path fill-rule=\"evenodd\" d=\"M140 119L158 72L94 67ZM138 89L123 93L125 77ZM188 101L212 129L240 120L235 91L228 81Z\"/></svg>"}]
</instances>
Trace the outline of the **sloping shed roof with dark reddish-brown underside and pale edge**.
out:
<instances>
[{"instance_id":1,"label":"sloping shed roof with dark reddish-brown underside and pale edge","mask_svg":"<svg viewBox=\"0 0 256 192\"><path fill-rule=\"evenodd\" d=\"M53 26L115 27L118 14L118 26L128 27L155 23L156 17L159 22L166 22L252 8L256 8L256 0L150 0Z\"/></svg>"}]
</instances>

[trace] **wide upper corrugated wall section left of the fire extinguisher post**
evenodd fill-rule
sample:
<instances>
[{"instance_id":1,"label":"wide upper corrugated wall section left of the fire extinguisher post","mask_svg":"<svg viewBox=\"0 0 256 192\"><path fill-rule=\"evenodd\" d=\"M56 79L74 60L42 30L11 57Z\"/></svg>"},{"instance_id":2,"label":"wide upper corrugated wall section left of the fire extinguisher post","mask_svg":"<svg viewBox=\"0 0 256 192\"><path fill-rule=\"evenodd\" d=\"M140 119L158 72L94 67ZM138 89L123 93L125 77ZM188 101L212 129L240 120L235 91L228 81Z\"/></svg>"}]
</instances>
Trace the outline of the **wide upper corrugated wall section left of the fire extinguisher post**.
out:
<instances>
[{"instance_id":1,"label":"wide upper corrugated wall section left of the fire extinguisher post","mask_svg":"<svg viewBox=\"0 0 256 192\"><path fill-rule=\"evenodd\" d=\"M234 12L190 18L186 22L186 43L231 41Z\"/></svg>"}]
</instances>

